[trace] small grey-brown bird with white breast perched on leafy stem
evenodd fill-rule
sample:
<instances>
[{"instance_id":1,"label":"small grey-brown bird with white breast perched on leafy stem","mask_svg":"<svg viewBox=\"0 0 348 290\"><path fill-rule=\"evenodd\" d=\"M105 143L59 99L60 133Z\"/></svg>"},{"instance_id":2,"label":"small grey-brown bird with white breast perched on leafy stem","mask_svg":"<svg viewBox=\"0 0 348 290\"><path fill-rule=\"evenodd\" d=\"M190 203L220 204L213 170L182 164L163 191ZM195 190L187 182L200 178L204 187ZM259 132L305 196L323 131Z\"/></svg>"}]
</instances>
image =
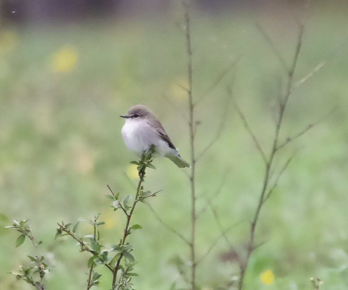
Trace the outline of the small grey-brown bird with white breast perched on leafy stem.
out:
<instances>
[{"instance_id":1,"label":"small grey-brown bird with white breast perched on leafy stem","mask_svg":"<svg viewBox=\"0 0 348 290\"><path fill-rule=\"evenodd\" d=\"M154 145L155 156L167 157L179 168L191 167L181 158L162 124L147 106L135 105L130 107L127 115L120 117L126 119L122 128L122 139L128 149L134 151L138 157L141 157L151 145Z\"/></svg>"}]
</instances>

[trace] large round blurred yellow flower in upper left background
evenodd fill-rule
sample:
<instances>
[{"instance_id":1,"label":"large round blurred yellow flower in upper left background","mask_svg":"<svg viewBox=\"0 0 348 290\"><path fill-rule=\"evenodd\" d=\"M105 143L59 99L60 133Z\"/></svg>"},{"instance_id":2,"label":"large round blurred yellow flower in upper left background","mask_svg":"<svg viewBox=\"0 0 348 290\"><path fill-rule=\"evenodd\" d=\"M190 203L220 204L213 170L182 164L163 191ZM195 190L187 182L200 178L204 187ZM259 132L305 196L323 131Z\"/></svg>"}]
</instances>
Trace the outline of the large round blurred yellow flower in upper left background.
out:
<instances>
[{"instance_id":1,"label":"large round blurred yellow flower in upper left background","mask_svg":"<svg viewBox=\"0 0 348 290\"><path fill-rule=\"evenodd\" d=\"M76 67L77 50L74 47L62 47L51 59L54 72L70 72Z\"/></svg>"}]
</instances>

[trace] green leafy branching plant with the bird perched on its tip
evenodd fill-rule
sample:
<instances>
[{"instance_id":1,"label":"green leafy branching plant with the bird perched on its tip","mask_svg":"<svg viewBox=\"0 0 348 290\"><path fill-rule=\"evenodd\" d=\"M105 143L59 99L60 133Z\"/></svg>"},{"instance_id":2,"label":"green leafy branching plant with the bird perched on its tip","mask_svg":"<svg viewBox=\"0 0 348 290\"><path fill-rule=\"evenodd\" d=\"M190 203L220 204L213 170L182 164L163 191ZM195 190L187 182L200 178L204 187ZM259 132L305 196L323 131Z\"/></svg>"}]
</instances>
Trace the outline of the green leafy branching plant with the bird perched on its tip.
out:
<instances>
[{"instance_id":1,"label":"green leafy branching plant with the bird perched on its tip","mask_svg":"<svg viewBox=\"0 0 348 290\"><path fill-rule=\"evenodd\" d=\"M134 213L135 206L137 202L143 202L146 198L156 196L159 191L151 193L150 191L144 192L144 187L142 183L144 182L145 169L147 167L156 169L152 164L152 154L155 152L155 147L151 146L147 152L144 152L141 159L137 161L131 161L131 164L138 165L137 170L139 173L139 183L136 190L135 198L133 204L130 202L132 200L132 195L127 194L123 197L120 196L120 193L114 194L110 189L111 194L106 195L107 198L112 200L111 207L116 212L118 209L126 216L126 226L124 229L123 237L120 239L117 244L104 243L101 239L100 231L98 227L104 225L104 222L100 222L99 218L102 213L94 216L94 219L79 219L76 223L64 224L58 223L58 229L56 233L56 238L63 237L65 235L70 235L74 240L80 245L80 251L88 251L91 254L91 257L88 259L87 267L89 269L88 279L87 279L87 290L92 286L98 286L100 282L101 274L94 271L94 269L103 265L107 267L112 272L112 287L111 289L134 289L132 277L138 276L134 270L139 270L135 268L137 263L135 257L133 256L133 251L135 250L134 246L128 242L126 239L128 235L133 233L135 230L142 229L142 226L139 224L134 224L130 226L130 219ZM83 237L78 237L77 229L80 222L89 223L93 226L93 233L85 235Z\"/></svg>"}]
</instances>

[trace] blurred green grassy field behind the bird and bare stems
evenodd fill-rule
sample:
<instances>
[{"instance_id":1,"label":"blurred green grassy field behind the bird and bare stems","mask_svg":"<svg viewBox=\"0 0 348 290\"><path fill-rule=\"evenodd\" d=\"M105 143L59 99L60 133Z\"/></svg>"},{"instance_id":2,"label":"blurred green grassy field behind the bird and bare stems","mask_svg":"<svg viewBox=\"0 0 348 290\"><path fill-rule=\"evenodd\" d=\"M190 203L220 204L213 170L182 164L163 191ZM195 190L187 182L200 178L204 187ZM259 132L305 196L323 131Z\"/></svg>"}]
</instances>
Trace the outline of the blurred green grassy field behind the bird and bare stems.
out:
<instances>
[{"instance_id":1,"label":"blurred green grassy field behind the bird and bare stems","mask_svg":"<svg viewBox=\"0 0 348 290\"><path fill-rule=\"evenodd\" d=\"M274 138L279 92L286 74L256 28L259 23L290 66L298 19L306 10L264 5L209 13L192 7L193 97L200 125L199 154L219 132L220 138L197 163L197 207L213 205L237 249L243 251L262 189L264 165L254 143L231 106L232 94L268 154ZM279 151L274 176L293 153L294 159L261 211L256 249L245 289L311 289L319 277L323 289L348 288L348 48L347 3L317 1L309 6L294 81L323 61L325 65L293 91L280 140L313 129ZM54 240L57 222L74 222L103 212L105 240L117 243L125 225L112 212L106 184L114 192L134 194L137 179L129 161L136 159L121 139L130 106L150 107L166 128L181 156L189 161L188 102L183 9L138 13L56 25L17 25L2 21L0 30L0 289L31 289L6 274L33 255L28 241L5 231L13 219L30 218L39 249L55 269L47 289L85 289L88 254L69 238ZM222 81L209 90L231 63ZM206 92L209 93L206 95ZM204 97L204 98L203 98ZM334 110L335 109L335 110ZM333 113L332 113L333 112ZM154 162L146 190L163 189L150 202L161 218L190 233L190 187L185 172L168 159ZM162 226L151 210L137 206L129 237L140 268L135 289L169 289L185 283L175 259L189 261L189 249ZM90 227L80 227L88 234ZM206 209L197 221L197 256L219 237ZM218 289L238 276L236 261L226 261L228 246L220 239L199 265L202 289ZM261 273L271 270L272 284ZM101 289L110 289L110 274L98 272ZM224 288L225 287L225 288ZM231 289L234 289L233 286Z\"/></svg>"}]
</instances>

